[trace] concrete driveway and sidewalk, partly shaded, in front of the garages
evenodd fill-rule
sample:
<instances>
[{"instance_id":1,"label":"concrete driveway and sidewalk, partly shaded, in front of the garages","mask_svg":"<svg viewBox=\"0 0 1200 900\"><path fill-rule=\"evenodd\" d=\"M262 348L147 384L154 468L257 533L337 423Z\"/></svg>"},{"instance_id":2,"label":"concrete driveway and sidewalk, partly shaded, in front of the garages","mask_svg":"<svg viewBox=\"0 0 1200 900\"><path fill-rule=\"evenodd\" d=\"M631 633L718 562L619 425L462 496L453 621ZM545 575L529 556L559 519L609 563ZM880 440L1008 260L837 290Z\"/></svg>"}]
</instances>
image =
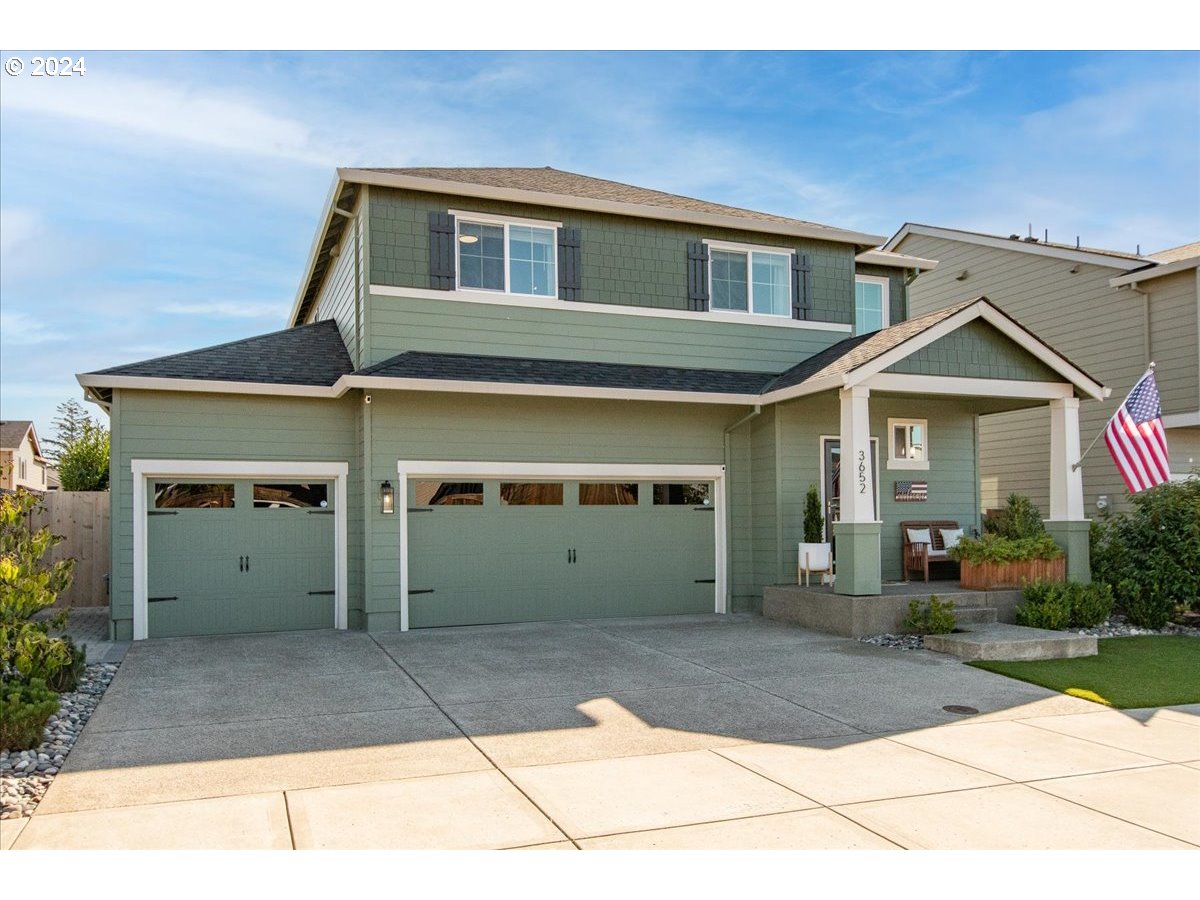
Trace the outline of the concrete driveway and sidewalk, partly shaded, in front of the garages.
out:
<instances>
[{"instance_id":1,"label":"concrete driveway and sidewalk, partly shaded, in front of the garages","mask_svg":"<svg viewBox=\"0 0 1200 900\"><path fill-rule=\"evenodd\" d=\"M23 822L5 845L1194 848L1200 708L754 616L161 640Z\"/></svg>"}]
</instances>

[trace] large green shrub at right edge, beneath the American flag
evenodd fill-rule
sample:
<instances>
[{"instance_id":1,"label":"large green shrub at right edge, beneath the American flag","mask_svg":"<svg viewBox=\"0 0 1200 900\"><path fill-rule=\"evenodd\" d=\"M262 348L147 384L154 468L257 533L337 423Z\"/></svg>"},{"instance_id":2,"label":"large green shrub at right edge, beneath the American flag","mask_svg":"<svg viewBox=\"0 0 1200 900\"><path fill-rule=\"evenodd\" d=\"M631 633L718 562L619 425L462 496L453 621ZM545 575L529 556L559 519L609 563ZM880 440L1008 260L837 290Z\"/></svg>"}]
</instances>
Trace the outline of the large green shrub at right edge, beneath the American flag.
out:
<instances>
[{"instance_id":1,"label":"large green shrub at right edge, beneath the American flag","mask_svg":"<svg viewBox=\"0 0 1200 900\"><path fill-rule=\"evenodd\" d=\"M1152 487L1129 502L1129 511L1092 527L1092 577L1116 589L1130 622L1157 622L1163 608L1170 617L1175 605L1200 611L1200 478Z\"/></svg>"}]
</instances>

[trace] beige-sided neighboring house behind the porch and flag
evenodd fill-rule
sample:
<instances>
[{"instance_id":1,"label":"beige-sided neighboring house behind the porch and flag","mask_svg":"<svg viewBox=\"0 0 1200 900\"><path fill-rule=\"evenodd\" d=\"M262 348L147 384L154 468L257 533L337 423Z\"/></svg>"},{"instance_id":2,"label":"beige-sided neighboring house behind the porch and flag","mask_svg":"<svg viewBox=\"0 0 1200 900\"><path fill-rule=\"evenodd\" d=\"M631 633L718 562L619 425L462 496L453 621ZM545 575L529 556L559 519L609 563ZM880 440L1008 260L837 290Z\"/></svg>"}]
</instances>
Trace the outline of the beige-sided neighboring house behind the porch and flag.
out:
<instances>
[{"instance_id":1,"label":"beige-sided neighboring house behind the porch and flag","mask_svg":"<svg viewBox=\"0 0 1200 900\"><path fill-rule=\"evenodd\" d=\"M1171 470L1183 478L1200 466L1200 244L1140 257L910 223L884 248L940 263L910 288L913 314L943 308L965 294L986 294L1106 384L1112 396L1081 412L1085 449L1153 361ZM1046 410L986 416L979 439L984 509L1002 505L1015 491L1046 511ZM1129 492L1103 439L1082 470L1088 516L1100 504L1127 506Z\"/></svg>"}]
</instances>

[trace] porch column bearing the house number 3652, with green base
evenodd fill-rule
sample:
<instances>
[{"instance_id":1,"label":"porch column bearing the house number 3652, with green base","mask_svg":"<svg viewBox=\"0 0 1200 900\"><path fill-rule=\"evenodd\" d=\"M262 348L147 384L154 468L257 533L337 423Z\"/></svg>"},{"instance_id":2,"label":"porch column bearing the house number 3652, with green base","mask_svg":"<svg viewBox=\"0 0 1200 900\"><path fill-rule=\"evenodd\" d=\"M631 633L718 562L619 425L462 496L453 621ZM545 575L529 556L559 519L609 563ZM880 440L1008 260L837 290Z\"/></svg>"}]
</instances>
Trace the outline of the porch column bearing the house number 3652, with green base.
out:
<instances>
[{"instance_id":1,"label":"porch column bearing the house number 3652, with green base","mask_svg":"<svg viewBox=\"0 0 1200 900\"><path fill-rule=\"evenodd\" d=\"M878 594L880 522L875 518L875 467L871 462L870 390L846 388L841 401L841 518L834 524L838 541L839 594Z\"/></svg>"}]
</instances>

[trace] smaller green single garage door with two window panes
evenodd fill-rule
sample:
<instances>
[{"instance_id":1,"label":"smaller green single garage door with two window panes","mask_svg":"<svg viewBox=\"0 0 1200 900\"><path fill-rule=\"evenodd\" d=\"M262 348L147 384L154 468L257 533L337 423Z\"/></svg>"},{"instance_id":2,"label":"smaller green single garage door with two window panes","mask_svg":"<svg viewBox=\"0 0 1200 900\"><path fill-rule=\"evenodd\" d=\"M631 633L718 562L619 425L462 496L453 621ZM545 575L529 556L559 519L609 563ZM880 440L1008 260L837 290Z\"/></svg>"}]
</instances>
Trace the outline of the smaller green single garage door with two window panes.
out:
<instances>
[{"instance_id":1,"label":"smaller green single garage door with two window panes","mask_svg":"<svg viewBox=\"0 0 1200 900\"><path fill-rule=\"evenodd\" d=\"M334 628L334 487L146 485L149 636Z\"/></svg>"}]
</instances>

